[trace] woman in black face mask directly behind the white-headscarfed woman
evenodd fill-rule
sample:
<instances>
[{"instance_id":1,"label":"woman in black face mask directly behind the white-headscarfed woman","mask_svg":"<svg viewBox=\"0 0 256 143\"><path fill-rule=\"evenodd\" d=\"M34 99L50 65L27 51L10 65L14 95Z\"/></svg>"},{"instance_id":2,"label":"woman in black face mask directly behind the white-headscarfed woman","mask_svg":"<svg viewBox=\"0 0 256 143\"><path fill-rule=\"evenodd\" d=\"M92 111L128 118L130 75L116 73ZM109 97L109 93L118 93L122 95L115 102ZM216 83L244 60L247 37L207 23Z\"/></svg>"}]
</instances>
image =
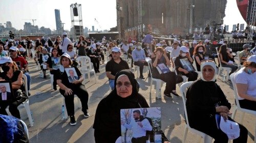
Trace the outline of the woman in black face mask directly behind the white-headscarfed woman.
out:
<instances>
[{"instance_id":1,"label":"woman in black face mask directly behind the white-headscarfed woman","mask_svg":"<svg viewBox=\"0 0 256 143\"><path fill-rule=\"evenodd\" d=\"M194 49L194 56L195 56L195 62L197 65L197 71L201 71L200 70L200 66L201 66L201 61L204 60L204 52L206 51L204 45L200 45L198 44L196 46L196 48Z\"/></svg>"}]
</instances>

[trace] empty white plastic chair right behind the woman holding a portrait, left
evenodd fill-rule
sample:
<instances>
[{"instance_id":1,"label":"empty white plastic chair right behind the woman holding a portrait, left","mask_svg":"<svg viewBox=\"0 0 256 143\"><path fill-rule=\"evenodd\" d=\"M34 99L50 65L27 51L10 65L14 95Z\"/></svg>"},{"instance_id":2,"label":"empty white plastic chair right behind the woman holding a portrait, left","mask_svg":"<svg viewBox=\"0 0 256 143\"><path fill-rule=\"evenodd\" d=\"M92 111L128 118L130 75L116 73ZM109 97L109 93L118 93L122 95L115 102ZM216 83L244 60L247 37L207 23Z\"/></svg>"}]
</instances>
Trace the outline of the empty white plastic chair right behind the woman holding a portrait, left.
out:
<instances>
[{"instance_id":1,"label":"empty white plastic chair right behind the woman holding a portrait, left","mask_svg":"<svg viewBox=\"0 0 256 143\"><path fill-rule=\"evenodd\" d=\"M88 56L79 56L76 59L76 62L78 63L79 70L83 74L83 78L86 79L86 74L88 74L88 80L90 81L90 79L91 79L90 73L93 72L94 78L95 78L95 83L97 83L96 73L95 73L95 70L92 69L91 59Z\"/></svg>"}]
</instances>

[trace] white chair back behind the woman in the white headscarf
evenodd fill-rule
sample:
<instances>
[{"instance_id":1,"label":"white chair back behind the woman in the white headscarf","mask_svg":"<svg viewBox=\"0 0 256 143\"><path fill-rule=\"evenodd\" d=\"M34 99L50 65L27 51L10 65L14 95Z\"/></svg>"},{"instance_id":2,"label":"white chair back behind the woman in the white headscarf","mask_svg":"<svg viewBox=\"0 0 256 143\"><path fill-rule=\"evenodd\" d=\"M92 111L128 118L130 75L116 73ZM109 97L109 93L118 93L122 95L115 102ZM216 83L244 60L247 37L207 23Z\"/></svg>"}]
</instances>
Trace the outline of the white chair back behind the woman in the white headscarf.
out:
<instances>
[{"instance_id":1,"label":"white chair back behind the woman in the white headscarf","mask_svg":"<svg viewBox=\"0 0 256 143\"><path fill-rule=\"evenodd\" d=\"M188 122L188 118L187 118L187 108L186 108L186 92L187 92L187 89L190 87L190 85L193 83L194 81L188 81L188 82L185 82L181 85L180 87L180 93L182 95L182 100L183 100L183 105L184 105L184 111L185 111L185 119L186 119L186 123L187 123L187 126L189 126L189 122Z\"/></svg>"}]
</instances>

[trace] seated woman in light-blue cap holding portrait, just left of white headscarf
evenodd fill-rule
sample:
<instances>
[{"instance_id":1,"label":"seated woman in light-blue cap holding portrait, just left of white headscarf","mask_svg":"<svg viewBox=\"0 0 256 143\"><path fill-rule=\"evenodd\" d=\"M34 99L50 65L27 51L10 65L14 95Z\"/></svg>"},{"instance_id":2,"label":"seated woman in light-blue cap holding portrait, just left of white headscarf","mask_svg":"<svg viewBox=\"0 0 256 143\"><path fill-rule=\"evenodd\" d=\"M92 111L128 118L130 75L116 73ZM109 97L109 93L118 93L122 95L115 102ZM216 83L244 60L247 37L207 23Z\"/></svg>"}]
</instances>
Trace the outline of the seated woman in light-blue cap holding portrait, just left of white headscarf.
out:
<instances>
[{"instance_id":1,"label":"seated woman in light-blue cap holding portrait, just left of white headscarf","mask_svg":"<svg viewBox=\"0 0 256 143\"><path fill-rule=\"evenodd\" d=\"M187 47L181 46L180 55L177 56L176 60L174 61L175 66L176 66L175 69L177 71L177 74L185 75L186 77L188 77L188 81L195 81L195 80L197 80L198 73L195 72L195 71L188 72L181 65L180 59L185 59L185 58L187 58L188 61L189 61L189 65L188 65L187 69L193 68L193 65L191 64L191 63L193 63L193 59L191 58ZM187 66L187 65L185 65L185 66Z\"/></svg>"}]
</instances>

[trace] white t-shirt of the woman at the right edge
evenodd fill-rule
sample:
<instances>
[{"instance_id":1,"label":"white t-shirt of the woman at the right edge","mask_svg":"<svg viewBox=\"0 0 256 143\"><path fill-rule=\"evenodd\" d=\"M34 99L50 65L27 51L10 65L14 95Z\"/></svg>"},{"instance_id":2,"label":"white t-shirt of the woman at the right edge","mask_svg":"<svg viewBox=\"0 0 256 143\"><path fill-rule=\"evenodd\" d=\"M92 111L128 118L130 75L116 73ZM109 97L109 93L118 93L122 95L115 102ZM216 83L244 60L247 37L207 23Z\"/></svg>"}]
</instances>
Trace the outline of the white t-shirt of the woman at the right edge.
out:
<instances>
[{"instance_id":1,"label":"white t-shirt of the woman at the right edge","mask_svg":"<svg viewBox=\"0 0 256 143\"><path fill-rule=\"evenodd\" d=\"M245 67L240 69L236 75L234 75L234 82L236 83L242 83L242 84L247 84L248 89L247 89L247 94L256 97L256 72L253 74L248 74L244 71ZM241 98L238 96L239 100L242 100L244 98Z\"/></svg>"}]
</instances>

